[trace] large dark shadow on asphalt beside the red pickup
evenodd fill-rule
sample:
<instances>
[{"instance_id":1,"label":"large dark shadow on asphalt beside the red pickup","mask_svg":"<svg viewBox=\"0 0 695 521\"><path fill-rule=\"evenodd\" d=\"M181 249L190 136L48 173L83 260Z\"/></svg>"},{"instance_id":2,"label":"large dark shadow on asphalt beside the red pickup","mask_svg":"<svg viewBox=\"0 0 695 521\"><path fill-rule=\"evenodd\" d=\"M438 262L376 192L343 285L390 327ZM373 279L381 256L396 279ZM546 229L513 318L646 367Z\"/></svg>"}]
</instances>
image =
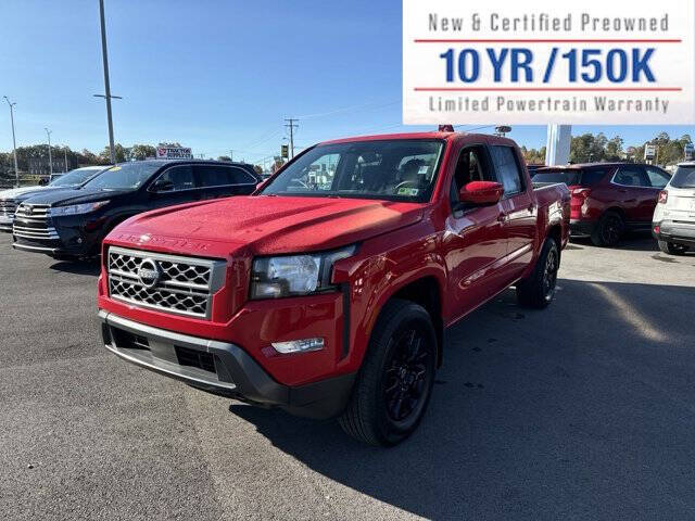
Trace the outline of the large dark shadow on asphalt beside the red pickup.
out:
<instances>
[{"instance_id":1,"label":"large dark shadow on asphalt beside the red pickup","mask_svg":"<svg viewBox=\"0 0 695 521\"><path fill-rule=\"evenodd\" d=\"M232 405L309 469L430 519L687 519L695 509L695 288L560 280L544 312L508 291L453 328L410 440ZM579 305L581 304L581 305ZM664 309L678 320L656 321Z\"/></svg>"}]
</instances>

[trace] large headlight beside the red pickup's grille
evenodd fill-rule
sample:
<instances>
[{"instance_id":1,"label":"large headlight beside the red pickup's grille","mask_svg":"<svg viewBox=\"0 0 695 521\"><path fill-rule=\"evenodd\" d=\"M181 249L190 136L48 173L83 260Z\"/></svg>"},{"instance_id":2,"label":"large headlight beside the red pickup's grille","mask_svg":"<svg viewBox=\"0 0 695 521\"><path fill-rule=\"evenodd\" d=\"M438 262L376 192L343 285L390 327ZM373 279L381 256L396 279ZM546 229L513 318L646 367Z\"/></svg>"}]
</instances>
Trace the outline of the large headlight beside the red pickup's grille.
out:
<instances>
[{"instance_id":1,"label":"large headlight beside the red pickup's grille","mask_svg":"<svg viewBox=\"0 0 695 521\"><path fill-rule=\"evenodd\" d=\"M251 298L280 298L332 291L333 264L355 253L354 245L328 253L260 257L253 260Z\"/></svg>"}]
</instances>

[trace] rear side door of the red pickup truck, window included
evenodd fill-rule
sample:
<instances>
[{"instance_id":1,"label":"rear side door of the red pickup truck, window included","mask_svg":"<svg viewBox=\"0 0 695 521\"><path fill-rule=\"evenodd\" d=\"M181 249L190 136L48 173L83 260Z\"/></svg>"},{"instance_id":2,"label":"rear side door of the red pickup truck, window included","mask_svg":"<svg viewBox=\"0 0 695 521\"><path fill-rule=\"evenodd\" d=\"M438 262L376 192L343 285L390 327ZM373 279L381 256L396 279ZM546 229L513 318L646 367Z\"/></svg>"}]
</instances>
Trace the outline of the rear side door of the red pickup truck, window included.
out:
<instances>
[{"instance_id":1,"label":"rear side door of the red pickup truck, window included","mask_svg":"<svg viewBox=\"0 0 695 521\"><path fill-rule=\"evenodd\" d=\"M505 283L516 279L533 258L538 211L532 188L527 186L523 163L516 149L507 145L490 148L497 179L504 186L502 201L504 232L507 239Z\"/></svg>"}]
</instances>

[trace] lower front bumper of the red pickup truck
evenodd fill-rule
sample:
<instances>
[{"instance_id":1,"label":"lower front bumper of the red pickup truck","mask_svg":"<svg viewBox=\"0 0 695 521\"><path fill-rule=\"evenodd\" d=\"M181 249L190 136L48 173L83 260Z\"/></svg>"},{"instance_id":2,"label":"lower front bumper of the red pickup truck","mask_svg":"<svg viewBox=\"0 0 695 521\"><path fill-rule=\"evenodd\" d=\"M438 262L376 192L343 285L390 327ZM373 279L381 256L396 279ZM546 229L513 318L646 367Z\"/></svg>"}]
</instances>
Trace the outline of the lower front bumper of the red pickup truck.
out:
<instances>
[{"instance_id":1,"label":"lower front bumper of the red pickup truck","mask_svg":"<svg viewBox=\"0 0 695 521\"><path fill-rule=\"evenodd\" d=\"M355 373L283 385L236 344L146 326L103 309L99 318L109 351L203 391L309 418L338 416L350 399Z\"/></svg>"}]
</instances>

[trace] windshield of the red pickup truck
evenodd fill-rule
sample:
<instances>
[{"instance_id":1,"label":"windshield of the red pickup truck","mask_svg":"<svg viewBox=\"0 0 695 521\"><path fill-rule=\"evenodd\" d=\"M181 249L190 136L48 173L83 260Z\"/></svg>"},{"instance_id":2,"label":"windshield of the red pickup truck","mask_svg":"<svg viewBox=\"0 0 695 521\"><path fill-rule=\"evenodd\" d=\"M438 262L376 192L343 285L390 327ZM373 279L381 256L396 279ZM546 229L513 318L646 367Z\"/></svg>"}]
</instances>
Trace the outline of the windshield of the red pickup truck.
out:
<instances>
[{"instance_id":1,"label":"windshield of the red pickup truck","mask_svg":"<svg viewBox=\"0 0 695 521\"><path fill-rule=\"evenodd\" d=\"M426 202L443 150L439 140L320 145L285 168L261 193Z\"/></svg>"}]
</instances>

